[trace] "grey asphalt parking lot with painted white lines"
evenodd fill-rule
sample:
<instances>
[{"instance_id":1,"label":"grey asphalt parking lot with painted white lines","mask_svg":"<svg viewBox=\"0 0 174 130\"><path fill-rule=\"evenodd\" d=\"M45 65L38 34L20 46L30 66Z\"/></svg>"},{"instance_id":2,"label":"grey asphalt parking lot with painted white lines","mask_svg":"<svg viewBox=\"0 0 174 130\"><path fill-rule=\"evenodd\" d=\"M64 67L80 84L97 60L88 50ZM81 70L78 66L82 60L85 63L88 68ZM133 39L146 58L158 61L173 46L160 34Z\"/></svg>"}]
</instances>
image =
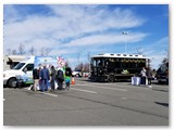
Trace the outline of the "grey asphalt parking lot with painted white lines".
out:
<instances>
[{"instance_id":1,"label":"grey asphalt parking lot with painted white lines","mask_svg":"<svg viewBox=\"0 0 174 130\"><path fill-rule=\"evenodd\" d=\"M4 126L167 126L169 86L91 82L67 91L3 89Z\"/></svg>"}]
</instances>

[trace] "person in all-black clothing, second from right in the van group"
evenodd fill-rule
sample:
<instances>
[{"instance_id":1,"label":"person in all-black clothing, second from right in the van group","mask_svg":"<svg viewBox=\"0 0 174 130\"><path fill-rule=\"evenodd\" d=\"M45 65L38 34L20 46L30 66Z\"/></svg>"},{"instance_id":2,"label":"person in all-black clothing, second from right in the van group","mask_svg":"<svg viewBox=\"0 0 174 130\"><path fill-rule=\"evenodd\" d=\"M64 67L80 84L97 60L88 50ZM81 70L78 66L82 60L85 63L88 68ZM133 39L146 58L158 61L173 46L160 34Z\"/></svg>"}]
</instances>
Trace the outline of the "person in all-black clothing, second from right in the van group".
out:
<instances>
[{"instance_id":1,"label":"person in all-black clothing, second from right in the van group","mask_svg":"<svg viewBox=\"0 0 174 130\"><path fill-rule=\"evenodd\" d=\"M58 70L57 80L58 80L58 90L62 90L64 81L63 70L61 69Z\"/></svg>"}]
</instances>

